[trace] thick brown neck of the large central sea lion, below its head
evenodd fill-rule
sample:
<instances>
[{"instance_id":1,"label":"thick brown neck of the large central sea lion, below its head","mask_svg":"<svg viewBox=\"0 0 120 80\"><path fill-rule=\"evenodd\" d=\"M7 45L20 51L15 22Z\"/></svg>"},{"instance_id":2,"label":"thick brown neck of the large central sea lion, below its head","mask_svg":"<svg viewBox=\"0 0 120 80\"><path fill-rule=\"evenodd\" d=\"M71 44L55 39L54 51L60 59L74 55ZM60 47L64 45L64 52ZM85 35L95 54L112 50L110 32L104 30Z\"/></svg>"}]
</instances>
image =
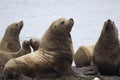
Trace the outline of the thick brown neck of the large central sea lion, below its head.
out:
<instances>
[{"instance_id":1,"label":"thick brown neck of the large central sea lion, below its head","mask_svg":"<svg viewBox=\"0 0 120 80\"><path fill-rule=\"evenodd\" d=\"M48 51L69 51L71 50L72 39L70 33L54 34L51 31L47 31L40 40L40 47ZM67 48L66 48L67 47Z\"/></svg>"}]
</instances>

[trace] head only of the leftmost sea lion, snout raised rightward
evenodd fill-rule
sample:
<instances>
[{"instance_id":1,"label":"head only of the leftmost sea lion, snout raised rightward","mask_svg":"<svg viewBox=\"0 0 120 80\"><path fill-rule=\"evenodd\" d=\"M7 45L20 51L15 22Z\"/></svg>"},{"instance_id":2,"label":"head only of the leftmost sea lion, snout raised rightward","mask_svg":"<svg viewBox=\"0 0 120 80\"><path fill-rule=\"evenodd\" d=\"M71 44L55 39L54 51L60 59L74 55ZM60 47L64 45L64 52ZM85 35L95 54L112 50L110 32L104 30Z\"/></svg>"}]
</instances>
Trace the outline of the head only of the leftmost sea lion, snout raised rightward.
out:
<instances>
[{"instance_id":1,"label":"head only of the leftmost sea lion, snout raised rightward","mask_svg":"<svg viewBox=\"0 0 120 80\"><path fill-rule=\"evenodd\" d=\"M23 28L23 21L12 23L8 26L6 34L10 36L18 36L21 29Z\"/></svg>"}]
</instances>

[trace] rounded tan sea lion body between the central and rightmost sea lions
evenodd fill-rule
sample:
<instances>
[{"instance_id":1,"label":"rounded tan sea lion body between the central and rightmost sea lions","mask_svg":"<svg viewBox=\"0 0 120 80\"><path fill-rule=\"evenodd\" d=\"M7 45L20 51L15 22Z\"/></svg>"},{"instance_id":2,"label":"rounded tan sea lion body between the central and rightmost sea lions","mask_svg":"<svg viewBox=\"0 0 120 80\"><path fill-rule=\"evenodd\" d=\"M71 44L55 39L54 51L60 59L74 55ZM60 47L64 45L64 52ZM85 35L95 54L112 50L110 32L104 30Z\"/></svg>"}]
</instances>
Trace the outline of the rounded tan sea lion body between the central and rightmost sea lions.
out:
<instances>
[{"instance_id":1,"label":"rounded tan sea lion body between the central and rightmost sea lions","mask_svg":"<svg viewBox=\"0 0 120 80\"><path fill-rule=\"evenodd\" d=\"M79 47L74 54L74 61L77 68L89 66L91 64L94 46L95 45Z\"/></svg>"}]
</instances>

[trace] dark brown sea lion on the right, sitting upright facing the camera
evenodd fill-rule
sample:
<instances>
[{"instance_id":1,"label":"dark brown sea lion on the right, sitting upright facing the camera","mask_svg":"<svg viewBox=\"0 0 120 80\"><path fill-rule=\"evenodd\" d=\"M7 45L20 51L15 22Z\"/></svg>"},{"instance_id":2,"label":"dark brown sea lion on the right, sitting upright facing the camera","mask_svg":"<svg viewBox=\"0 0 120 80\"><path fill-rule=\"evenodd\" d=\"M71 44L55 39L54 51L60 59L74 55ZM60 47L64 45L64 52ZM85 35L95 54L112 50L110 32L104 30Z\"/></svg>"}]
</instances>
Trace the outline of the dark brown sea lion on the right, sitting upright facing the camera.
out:
<instances>
[{"instance_id":1,"label":"dark brown sea lion on the right, sitting upright facing the camera","mask_svg":"<svg viewBox=\"0 0 120 80\"><path fill-rule=\"evenodd\" d=\"M93 51L93 71L90 74L120 75L120 42L118 29L110 19L104 23Z\"/></svg>"}]
</instances>

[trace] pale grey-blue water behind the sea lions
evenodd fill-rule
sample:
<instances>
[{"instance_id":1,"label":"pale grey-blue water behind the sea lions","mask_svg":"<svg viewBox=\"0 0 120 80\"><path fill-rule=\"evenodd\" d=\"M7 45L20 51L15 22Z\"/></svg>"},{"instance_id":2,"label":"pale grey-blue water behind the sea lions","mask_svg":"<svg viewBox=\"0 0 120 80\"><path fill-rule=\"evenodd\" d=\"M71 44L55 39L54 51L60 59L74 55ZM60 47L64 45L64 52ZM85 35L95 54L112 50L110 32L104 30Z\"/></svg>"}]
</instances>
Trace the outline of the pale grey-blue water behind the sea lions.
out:
<instances>
[{"instance_id":1,"label":"pale grey-blue water behind the sea lions","mask_svg":"<svg viewBox=\"0 0 120 80\"><path fill-rule=\"evenodd\" d=\"M94 44L104 21L112 19L120 31L119 0L0 0L0 37L6 27L23 20L20 39L40 38L52 21L73 18L71 35L74 51L81 45Z\"/></svg>"}]
</instances>

